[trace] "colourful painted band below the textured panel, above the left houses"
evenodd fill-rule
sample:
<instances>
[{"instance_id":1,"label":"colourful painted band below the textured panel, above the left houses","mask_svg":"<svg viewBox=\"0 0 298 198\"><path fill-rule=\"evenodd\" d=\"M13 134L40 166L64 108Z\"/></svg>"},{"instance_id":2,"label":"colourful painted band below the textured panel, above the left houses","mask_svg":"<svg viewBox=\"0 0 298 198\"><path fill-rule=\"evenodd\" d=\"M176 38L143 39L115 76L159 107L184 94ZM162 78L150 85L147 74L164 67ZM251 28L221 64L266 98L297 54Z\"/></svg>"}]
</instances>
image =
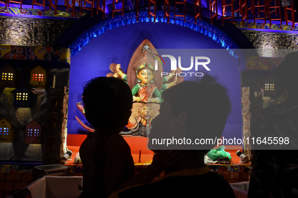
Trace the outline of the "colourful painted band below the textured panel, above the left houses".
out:
<instances>
[{"instance_id":1,"label":"colourful painted band below the textured panel, above the left houses","mask_svg":"<svg viewBox=\"0 0 298 198\"><path fill-rule=\"evenodd\" d=\"M70 49L67 48L0 45L0 59L45 60L70 64L70 55Z\"/></svg>"}]
</instances>

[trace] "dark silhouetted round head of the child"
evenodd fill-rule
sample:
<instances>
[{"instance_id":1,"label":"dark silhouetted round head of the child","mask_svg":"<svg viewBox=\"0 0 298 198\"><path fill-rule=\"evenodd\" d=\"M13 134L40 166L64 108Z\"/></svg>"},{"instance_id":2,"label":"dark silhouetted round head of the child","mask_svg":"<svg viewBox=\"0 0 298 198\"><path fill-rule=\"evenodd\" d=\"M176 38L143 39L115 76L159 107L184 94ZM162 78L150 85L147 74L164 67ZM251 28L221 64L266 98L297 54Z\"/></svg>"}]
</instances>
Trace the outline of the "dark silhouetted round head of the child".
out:
<instances>
[{"instance_id":1,"label":"dark silhouetted round head of the child","mask_svg":"<svg viewBox=\"0 0 298 198\"><path fill-rule=\"evenodd\" d=\"M87 121L100 129L120 129L128 124L132 91L121 79L96 77L84 85L83 103Z\"/></svg>"}]
</instances>

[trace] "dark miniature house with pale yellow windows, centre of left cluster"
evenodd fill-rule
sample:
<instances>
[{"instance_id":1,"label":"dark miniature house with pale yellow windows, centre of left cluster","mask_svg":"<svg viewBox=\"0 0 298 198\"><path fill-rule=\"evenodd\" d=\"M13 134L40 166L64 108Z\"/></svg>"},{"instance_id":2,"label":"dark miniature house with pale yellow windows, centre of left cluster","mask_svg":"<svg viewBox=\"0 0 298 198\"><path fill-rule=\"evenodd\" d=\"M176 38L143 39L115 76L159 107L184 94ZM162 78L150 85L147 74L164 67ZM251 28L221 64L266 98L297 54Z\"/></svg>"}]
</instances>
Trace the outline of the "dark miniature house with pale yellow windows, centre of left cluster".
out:
<instances>
[{"instance_id":1,"label":"dark miniature house with pale yellow windows, centre of left cluster","mask_svg":"<svg viewBox=\"0 0 298 198\"><path fill-rule=\"evenodd\" d=\"M30 107L31 91L25 85L15 90L14 107Z\"/></svg>"}]
</instances>

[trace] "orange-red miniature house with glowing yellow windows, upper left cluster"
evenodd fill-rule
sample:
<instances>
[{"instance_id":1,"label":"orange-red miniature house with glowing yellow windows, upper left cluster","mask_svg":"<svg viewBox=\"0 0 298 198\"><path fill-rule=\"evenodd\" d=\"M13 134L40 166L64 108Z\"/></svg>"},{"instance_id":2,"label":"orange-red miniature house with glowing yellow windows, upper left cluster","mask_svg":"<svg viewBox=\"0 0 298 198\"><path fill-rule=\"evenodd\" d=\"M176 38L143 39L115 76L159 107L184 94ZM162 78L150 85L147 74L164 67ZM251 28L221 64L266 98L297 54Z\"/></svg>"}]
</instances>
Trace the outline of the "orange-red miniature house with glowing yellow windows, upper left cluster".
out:
<instances>
[{"instance_id":1,"label":"orange-red miniature house with glowing yellow windows, upper left cluster","mask_svg":"<svg viewBox=\"0 0 298 198\"><path fill-rule=\"evenodd\" d=\"M46 71L41 66L37 66L31 70L30 85L36 88L45 88L46 77Z\"/></svg>"}]
</instances>

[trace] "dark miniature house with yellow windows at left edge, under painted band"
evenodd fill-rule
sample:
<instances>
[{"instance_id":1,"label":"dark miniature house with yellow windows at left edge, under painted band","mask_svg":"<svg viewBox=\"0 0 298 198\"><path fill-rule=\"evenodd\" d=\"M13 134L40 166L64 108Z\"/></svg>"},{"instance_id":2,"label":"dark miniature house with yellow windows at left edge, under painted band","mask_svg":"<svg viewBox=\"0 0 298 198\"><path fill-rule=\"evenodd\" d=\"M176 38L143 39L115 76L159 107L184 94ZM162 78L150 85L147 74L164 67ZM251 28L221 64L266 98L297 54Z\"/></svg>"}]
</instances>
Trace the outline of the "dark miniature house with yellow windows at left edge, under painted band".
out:
<instances>
[{"instance_id":1,"label":"dark miniature house with yellow windows at left edge, under painted band","mask_svg":"<svg viewBox=\"0 0 298 198\"><path fill-rule=\"evenodd\" d=\"M6 65L0 69L1 81L0 87L16 87L16 70L11 65Z\"/></svg>"}]
</instances>

